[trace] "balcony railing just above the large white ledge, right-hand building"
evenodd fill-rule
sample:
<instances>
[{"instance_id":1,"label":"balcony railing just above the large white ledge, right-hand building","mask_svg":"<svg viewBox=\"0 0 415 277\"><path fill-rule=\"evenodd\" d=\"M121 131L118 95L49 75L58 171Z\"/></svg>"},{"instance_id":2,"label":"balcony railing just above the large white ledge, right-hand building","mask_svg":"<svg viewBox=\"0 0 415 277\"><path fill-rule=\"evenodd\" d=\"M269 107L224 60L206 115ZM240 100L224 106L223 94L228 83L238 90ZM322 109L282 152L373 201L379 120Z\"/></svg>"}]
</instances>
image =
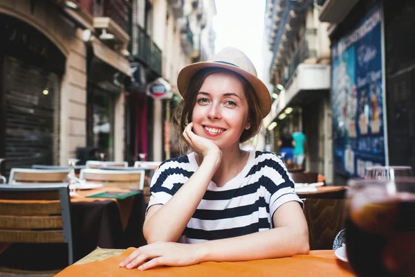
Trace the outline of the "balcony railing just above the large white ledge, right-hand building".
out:
<instances>
[{"instance_id":1,"label":"balcony railing just above the large white ledge, right-hand building","mask_svg":"<svg viewBox=\"0 0 415 277\"><path fill-rule=\"evenodd\" d=\"M293 76L295 70L297 69L298 64L304 62L304 60L317 57L317 49L315 48L317 39L317 29L309 28L306 29L302 39L299 41L297 48L295 48L293 57L291 58L290 63L286 70L288 70L288 74L284 74L281 80L281 84L283 87L286 86L287 82Z\"/></svg>"}]
</instances>

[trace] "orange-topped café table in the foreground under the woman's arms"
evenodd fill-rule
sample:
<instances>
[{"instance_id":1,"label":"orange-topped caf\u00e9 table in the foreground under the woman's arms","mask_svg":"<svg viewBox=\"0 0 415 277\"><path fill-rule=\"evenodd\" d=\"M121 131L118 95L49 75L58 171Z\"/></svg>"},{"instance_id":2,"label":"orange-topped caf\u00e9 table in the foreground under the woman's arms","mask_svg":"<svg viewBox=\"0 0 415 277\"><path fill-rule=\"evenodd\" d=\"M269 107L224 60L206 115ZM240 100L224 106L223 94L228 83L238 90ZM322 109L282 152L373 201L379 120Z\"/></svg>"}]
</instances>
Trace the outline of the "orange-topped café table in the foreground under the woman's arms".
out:
<instances>
[{"instance_id":1,"label":"orange-topped caf\u00e9 table in the foreground under the woman's arms","mask_svg":"<svg viewBox=\"0 0 415 277\"><path fill-rule=\"evenodd\" d=\"M146 271L126 269L118 264L135 248L95 249L89 255L60 271L66 276L356 276L349 263L335 257L334 250L315 250L308 255L246 262L201 262L187 267L156 267Z\"/></svg>"}]
</instances>

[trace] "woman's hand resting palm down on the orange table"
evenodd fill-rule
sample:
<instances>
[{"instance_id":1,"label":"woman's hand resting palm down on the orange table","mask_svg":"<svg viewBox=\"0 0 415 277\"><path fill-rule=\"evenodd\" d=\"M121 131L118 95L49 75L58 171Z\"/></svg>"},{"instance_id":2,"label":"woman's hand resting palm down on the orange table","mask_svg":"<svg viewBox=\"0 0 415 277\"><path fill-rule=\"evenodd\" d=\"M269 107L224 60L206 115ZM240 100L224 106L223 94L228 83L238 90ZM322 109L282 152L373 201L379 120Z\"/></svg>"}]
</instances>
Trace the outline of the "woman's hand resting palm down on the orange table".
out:
<instances>
[{"instance_id":1,"label":"woman's hand resting palm down on the orange table","mask_svg":"<svg viewBox=\"0 0 415 277\"><path fill-rule=\"evenodd\" d=\"M182 244L177 242L155 242L136 249L120 267L140 270L150 269L158 265L181 267L195 265L200 261L200 251L197 244Z\"/></svg>"}]
</instances>

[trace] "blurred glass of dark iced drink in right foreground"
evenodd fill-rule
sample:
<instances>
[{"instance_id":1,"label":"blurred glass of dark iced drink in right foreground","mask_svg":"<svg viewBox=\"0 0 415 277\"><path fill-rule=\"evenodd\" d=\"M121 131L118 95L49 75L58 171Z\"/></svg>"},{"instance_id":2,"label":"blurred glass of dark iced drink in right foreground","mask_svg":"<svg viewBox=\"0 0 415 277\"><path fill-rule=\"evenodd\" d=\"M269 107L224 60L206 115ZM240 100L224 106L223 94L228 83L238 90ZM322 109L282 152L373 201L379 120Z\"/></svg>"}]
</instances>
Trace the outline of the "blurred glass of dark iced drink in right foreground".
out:
<instances>
[{"instance_id":1,"label":"blurred glass of dark iced drink in right foreground","mask_svg":"<svg viewBox=\"0 0 415 277\"><path fill-rule=\"evenodd\" d=\"M358 276L415 276L415 178L348 182L346 251Z\"/></svg>"}]
</instances>

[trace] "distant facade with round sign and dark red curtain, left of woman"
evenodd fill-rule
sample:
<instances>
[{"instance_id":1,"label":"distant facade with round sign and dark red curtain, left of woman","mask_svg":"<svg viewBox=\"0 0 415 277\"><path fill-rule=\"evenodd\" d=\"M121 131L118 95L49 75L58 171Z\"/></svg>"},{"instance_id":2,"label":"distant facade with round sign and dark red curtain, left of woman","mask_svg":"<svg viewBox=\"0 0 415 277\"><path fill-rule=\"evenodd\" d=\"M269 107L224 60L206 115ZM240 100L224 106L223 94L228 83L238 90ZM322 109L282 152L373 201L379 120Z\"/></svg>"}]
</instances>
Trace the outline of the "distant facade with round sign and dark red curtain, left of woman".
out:
<instances>
[{"instance_id":1,"label":"distant facade with round sign and dark red curtain, left of woman","mask_svg":"<svg viewBox=\"0 0 415 277\"><path fill-rule=\"evenodd\" d=\"M136 0L132 5L126 159L163 161L179 154L172 123L181 99L178 72L214 53L216 6L212 0Z\"/></svg>"}]
</instances>

